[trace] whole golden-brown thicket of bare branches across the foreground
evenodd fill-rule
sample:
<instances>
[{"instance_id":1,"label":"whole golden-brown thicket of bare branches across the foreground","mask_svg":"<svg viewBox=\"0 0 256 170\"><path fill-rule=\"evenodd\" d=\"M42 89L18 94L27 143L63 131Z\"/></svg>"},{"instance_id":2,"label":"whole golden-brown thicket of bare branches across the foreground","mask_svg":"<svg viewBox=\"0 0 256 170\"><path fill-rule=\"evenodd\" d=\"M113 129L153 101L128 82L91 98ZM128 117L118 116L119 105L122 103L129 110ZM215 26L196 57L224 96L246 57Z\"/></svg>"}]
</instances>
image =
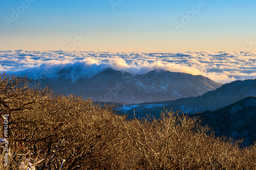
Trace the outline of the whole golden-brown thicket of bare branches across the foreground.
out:
<instances>
[{"instance_id":1,"label":"whole golden-brown thicket of bare branches across the foreground","mask_svg":"<svg viewBox=\"0 0 256 170\"><path fill-rule=\"evenodd\" d=\"M198 118L166 111L127 120L82 96L30 87L26 77L1 74L0 81L10 148L8 166L0 149L0 169L256 168L256 144L215 137ZM0 122L4 130L3 116Z\"/></svg>"}]
</instances>

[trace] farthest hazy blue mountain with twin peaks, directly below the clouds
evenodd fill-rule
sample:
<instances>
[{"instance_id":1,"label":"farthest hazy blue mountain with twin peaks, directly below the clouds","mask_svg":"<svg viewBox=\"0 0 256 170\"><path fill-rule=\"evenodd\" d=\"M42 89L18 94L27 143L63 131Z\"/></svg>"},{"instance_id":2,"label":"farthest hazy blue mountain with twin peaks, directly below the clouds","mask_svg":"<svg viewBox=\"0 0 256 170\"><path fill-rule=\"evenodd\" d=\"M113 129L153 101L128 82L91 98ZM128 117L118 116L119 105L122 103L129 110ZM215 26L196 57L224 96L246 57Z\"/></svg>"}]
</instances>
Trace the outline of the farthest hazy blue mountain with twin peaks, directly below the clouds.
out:
<instances>
[{"instance_id":1,"label":"farthest hazy blue mountain with twin peaks, directly below the clouds","mask_svg":"<svg viewBox=\"0 0 256 170\"><path fill-rule=\"evenodd\" d=\"M73 82L65 79L68 72L59 72L59 78L41 79L41 85L49 85L63 94L83 94L100 102L143 103L160 102L202 95L222 84L204 76L182 72L153 70L143 75L108 68L91 78Z\"/></svg>"}]
</instances>

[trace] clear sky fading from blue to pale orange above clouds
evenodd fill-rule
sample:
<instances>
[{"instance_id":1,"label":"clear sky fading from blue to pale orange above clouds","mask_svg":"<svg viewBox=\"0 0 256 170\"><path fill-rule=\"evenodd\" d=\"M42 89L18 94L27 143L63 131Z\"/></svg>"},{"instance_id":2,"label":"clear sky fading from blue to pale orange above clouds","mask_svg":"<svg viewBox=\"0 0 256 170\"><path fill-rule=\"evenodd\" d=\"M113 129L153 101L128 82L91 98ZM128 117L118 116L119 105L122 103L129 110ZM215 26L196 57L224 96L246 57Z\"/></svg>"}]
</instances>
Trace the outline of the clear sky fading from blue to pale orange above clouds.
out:
<instances>
[{"instance_id":1,"label":"clear sky fading from blue to pale orange above clouds","mask_svg":"<svg viewBox=\"0 0 256 170\"><path fill-rule=\"evenodd\" d=\"M256 1L2 0L0 50L19 49L256 51Z\"/></svg>"}]
</instances>

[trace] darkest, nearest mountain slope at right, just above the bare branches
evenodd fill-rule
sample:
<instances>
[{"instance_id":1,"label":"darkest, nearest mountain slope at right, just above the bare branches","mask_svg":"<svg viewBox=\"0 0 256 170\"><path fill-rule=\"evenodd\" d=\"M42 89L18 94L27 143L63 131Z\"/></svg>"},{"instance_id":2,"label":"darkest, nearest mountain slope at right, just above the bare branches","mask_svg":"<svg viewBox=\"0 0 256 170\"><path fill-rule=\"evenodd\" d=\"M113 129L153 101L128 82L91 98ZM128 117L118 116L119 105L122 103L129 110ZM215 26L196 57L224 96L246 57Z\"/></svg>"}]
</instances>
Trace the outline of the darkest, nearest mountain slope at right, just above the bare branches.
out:
<instances>
[{"instance_id":1,"label":"darkest, nearest mountain slope at right, just above the bare branches","mask_svg":"<svg viewBox=\"0 0 256 170\"><path fill-rule=\"evenodd\" d=\"M202 118L202 125L212 127L218 136L244 139L250 145L256 140L256 97L251 96L216 111L194 114Z\"/></svg>"}]
</instances>

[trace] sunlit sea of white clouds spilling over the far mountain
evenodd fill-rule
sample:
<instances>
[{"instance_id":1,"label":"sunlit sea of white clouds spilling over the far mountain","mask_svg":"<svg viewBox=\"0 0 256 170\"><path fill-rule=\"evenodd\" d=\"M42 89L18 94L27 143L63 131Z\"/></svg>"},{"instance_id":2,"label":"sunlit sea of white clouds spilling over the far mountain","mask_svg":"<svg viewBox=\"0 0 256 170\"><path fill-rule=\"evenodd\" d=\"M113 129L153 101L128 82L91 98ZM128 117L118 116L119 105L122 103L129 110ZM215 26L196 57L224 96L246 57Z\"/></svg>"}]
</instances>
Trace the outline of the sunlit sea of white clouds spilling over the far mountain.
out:
<instances>
[{"instance_id":1,"label":"sunlit sea of white clouds spilling over the far mountain","mask_svg":"<svg viewBox=\"0 0 256 170\"><path fill-rule=\"evenodd\" d=\"M90 78L105 68L145 74L154 69L203 75L218 83L256 78L256 52L115 53L0 51L0 72L31 79Z\"/></svg>"}]
</instances>

